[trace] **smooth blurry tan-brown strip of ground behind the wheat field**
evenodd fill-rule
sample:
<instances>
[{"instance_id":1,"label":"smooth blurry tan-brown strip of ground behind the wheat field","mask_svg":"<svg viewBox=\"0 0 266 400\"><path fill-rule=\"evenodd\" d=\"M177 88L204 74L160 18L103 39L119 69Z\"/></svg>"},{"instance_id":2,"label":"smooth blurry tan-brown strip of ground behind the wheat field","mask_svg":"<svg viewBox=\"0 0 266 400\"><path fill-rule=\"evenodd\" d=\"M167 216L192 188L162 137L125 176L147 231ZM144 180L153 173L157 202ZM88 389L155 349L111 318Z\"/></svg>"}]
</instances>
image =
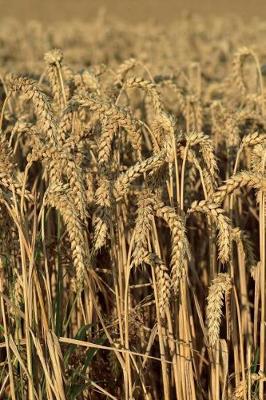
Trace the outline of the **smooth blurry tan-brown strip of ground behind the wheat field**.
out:
<instances>
[{"instance_id":1,"label":"smooth blurry tan-brown strip of ground behind the wheat field","mask_svg":"<svg viewBox=\"0 0 266 400\"><path fill-rule=\"evenodd\" d=\"M109 15L131 22L155 19L166 23L184 11L201 14L236 14L248 19L266 18L265 0L0 0L0 18L14 17L22 21L94 18L105 7Z\"/></svg>"}]
</instances>

